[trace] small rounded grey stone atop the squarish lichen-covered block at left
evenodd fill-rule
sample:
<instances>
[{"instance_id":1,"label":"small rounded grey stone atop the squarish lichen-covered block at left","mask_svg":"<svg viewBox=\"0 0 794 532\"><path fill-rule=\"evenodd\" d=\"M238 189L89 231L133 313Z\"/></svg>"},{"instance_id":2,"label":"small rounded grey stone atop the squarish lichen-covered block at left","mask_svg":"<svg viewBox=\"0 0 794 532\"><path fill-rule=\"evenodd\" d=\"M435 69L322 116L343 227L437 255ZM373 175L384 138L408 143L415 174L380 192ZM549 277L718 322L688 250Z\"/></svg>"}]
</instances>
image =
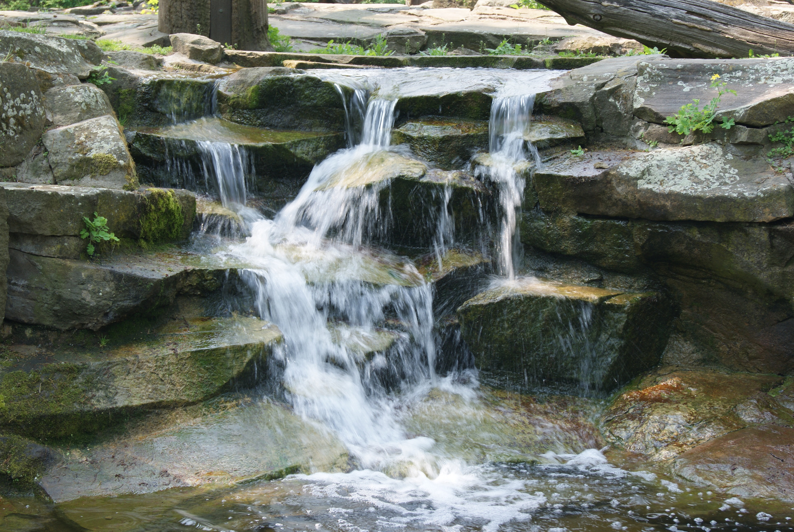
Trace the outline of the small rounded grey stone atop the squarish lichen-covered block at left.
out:
<instances>
[{"instance_id":1,"label":"small rounded grey stone atop the squarish lichen-covered block at left","mask_svg":"<svg viewBox=\"0 0 794 532\"><path fill-rule=\"evenodd\" d=\"M44 94L44 108L56 127L114 114L107 94L91 83L50 89Z\"/></svg>"}]
</instances>

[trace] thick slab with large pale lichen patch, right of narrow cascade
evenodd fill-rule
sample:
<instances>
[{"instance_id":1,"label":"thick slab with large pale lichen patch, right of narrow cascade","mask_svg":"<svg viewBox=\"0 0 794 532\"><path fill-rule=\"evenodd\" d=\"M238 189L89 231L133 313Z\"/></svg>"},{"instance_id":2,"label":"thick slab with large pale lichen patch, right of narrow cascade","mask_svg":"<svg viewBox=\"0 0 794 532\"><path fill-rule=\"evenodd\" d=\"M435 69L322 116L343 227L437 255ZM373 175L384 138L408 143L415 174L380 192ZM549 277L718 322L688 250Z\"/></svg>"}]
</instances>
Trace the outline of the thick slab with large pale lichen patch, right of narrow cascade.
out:
<instances>
[{"instance_id":1,"label":"thick slab with large pale lichen patch, right of narrow cascade","mask_svg":"<svg viewBox=\"0 0 794 532\"><path fill-rule=\"evenodd\" d=\"M534 177L542 208L659 221L794 215L794 189L763 157L736 156L716 143L623 156L617 162L596 152L545 164Z\"/></svg>"}]
</instances>

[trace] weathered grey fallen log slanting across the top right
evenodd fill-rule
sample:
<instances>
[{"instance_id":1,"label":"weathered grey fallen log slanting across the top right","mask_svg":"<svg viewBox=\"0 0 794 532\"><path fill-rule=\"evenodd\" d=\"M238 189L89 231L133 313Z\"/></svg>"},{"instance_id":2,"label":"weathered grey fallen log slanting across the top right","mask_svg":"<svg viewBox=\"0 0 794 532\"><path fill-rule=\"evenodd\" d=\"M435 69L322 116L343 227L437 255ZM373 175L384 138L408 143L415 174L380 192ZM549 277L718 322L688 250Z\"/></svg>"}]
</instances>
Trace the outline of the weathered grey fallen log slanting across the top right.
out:
<instances>
[{"instance_id":1,"label":"weathered grey fallen log slanting across the top right","mask_svg":"<svg viewBox=\"0 0 794 532\"><path fill-rule=\"evenodd\" d=\"M162 1L162 0L161 0ZM711 0L542 0L570 25L667 48L672 57L794 55L794 25Z\"/></svg>"}]
</instances>

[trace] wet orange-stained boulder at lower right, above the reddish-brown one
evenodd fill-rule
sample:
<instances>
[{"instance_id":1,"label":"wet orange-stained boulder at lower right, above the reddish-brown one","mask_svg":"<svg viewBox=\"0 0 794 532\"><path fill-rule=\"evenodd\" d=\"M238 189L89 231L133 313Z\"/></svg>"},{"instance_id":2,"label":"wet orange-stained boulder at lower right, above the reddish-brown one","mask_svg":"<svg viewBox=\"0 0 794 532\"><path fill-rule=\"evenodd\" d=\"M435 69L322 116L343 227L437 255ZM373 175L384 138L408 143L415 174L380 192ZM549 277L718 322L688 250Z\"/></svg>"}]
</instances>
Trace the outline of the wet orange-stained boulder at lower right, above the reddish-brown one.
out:
<instances>
[{"instance_id":1,"label":"wet orange-stained boulder at lower right, above the reddish-brown one","mask_svg":"<svg viewBox=\"0 0 794 532\"><path fill-rule=\"evenodd\" d=\"M603 434L631 453L663 461L756 423L788 426L794 412L773 397L783 381L769 374L661 368L615 398L603 414Z\"/></svg>"}]
</instances>

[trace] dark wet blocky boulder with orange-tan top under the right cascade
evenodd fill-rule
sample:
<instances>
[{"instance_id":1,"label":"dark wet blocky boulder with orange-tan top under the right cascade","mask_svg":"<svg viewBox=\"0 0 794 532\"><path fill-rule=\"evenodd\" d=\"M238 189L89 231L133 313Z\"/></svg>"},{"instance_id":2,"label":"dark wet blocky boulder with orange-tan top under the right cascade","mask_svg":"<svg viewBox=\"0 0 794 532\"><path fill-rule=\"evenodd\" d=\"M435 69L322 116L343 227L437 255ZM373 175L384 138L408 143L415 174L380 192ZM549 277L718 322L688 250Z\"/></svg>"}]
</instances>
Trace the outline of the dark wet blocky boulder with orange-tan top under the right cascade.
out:
<instances>
[{"instance_id":1,"label":"dark wet blocky boulder with orange-tan top under the right cascade","mask_svg":"<svg viewBox=\"0 0 794 532\"><path fill-rule=\"evenodd\" d=\"M654 292L527 277L476 295L457 317L486 383L522 389L556 381L592 394L658 363L672 309Z\"/></svg>"}]
</instances>

